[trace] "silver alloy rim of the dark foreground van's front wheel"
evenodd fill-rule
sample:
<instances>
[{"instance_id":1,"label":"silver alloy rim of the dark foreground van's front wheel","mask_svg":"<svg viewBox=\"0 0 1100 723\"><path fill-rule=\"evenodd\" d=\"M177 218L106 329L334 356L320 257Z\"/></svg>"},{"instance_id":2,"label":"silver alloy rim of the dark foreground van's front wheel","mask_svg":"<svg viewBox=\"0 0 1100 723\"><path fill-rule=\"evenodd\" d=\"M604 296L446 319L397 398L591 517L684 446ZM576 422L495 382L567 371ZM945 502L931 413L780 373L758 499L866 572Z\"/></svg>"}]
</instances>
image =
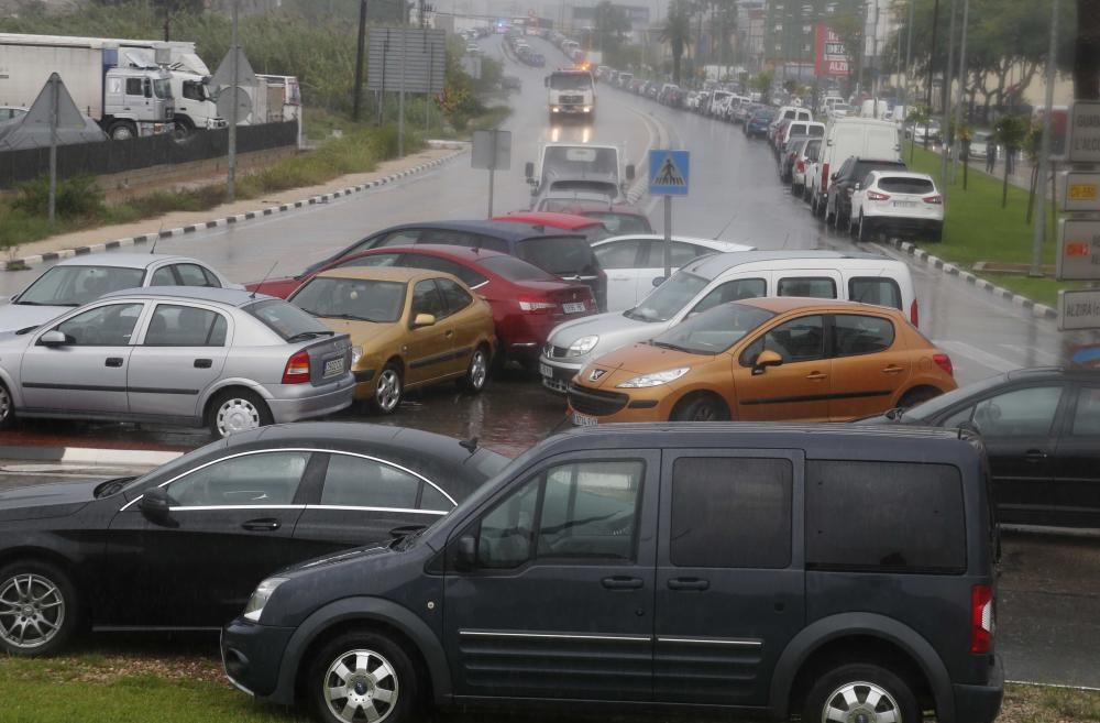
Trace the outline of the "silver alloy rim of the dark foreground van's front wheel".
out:
<instances>
[{"instance_id":1,"label":"silver alloy rim of the dark foreground van's front wheel","mask_svg":"<svg viewBox=\"0 0 1100 723\"><path fill-rule=\"evenodd\" d=\"M324 672L323 684L329 711L346 723L382 723L400 695L394 666L374 650L340 655Z\"/></svg>"}]
</instances>

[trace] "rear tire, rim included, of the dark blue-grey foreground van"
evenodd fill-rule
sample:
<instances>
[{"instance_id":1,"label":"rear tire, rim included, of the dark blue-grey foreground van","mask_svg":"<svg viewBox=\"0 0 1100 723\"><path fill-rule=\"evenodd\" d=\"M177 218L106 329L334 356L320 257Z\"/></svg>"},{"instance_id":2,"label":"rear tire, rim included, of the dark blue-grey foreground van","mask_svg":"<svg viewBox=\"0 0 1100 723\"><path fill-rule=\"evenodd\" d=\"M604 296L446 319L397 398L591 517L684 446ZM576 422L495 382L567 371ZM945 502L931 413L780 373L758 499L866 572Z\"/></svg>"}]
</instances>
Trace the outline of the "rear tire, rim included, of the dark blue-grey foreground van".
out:
<instances>
[{"instance_id":1,"label":"rear tire, rim included, of the dark blue-grey foreground van","mask_svg":"<svg viewBox=\"0 0 1100 723\"><path fill-rule=\"evenodd\" d=\"M816 680L806 695L802 720L920 723L921 709L902 678L886 668L857 662L827 670Z\"/></svg>"}]
</instances>

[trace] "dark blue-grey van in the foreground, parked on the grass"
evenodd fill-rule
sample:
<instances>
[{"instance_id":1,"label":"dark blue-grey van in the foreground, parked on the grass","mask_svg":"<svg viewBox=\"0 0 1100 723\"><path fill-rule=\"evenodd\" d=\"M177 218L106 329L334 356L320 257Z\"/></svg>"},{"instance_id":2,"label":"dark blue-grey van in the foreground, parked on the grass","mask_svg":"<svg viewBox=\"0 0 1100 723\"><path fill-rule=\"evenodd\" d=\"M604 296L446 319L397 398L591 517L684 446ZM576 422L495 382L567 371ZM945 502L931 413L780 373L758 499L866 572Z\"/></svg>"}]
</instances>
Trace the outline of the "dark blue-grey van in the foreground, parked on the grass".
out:
<instances>
[{"instance_id":1,"label":"dark blue-grey van in the foreground, parked on the grass","mask_svg":"<svg viewBox=\"0 0 1100 723\"><path fill-rule=\"evenodd\" d=\"M862 431L559 435L421 535L263 581L226 671L328 723L473 700L991 723L981 443Z\"/></svg>"}]
</instances>

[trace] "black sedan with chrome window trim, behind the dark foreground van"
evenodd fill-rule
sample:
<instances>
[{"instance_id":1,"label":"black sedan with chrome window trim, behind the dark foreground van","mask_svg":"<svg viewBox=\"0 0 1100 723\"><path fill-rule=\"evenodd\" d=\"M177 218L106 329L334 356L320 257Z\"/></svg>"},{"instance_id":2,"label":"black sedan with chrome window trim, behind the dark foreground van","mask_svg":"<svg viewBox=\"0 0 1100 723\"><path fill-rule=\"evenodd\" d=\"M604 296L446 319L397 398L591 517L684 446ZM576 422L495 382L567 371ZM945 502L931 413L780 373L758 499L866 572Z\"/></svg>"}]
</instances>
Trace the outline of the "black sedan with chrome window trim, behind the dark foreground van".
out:
<instances>
[{"instance_id":1,"label":"black sedan with chrome window trim, behind the dark foreground van","mask_svg":"<svg viewBox=\"0 0 1100 723\"><path fill-rule=\"evenodd\" d=\"M53 653L86 626L218 629L272 572L422 529L508 461L415 429L299 423L136 479L0 492L0 651Z\"/></svg>"}]
</instances>

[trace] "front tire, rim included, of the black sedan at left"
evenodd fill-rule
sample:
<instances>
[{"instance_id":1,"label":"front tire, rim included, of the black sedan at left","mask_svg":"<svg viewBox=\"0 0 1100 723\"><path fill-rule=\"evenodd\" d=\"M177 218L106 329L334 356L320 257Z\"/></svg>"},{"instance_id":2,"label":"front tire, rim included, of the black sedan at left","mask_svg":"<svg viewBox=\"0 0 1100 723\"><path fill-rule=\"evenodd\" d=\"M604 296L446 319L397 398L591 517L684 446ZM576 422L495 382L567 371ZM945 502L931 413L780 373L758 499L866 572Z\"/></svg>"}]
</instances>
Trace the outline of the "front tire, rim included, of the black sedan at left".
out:
<instances>
[{"instance_id":1,"label":"front tire, rim included, of the black sedan at left","mask_svg":"<svg viewBox=\"0 0 1100 723\"><path fill-rule=\"evenodd\" d=\"M53 655L79 626L76 588L48 562L26 560L0 568L0 605L20 613L0 616L0 650L8 655Z\"/></svg>"}]
</instances>

